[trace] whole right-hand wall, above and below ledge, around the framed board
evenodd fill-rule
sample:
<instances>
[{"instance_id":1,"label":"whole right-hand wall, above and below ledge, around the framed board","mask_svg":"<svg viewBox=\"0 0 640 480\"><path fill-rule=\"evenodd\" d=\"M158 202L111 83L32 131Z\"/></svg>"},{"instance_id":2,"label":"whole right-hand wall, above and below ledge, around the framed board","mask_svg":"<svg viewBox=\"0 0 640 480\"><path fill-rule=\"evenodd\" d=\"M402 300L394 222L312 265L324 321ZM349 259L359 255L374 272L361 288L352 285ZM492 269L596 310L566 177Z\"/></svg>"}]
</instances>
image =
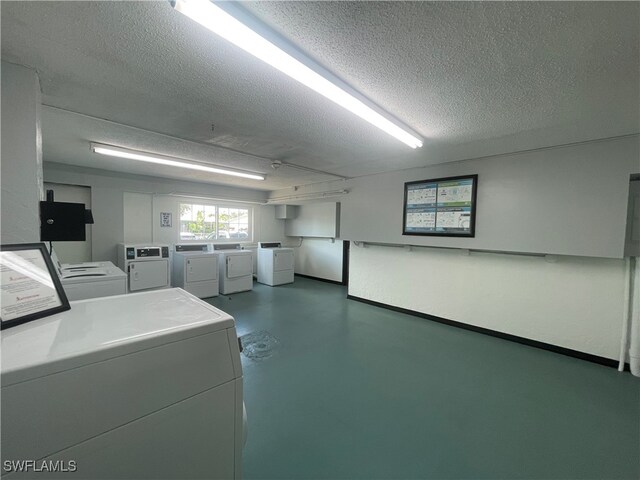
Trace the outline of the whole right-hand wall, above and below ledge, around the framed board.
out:
<instances>
[{"instance_id":1,"label":"whole right-hand wall, above and below ledge, around the framed board","mask_svg":"<svg viewBox=\"0 0 640 480\"><path fill-rule=\"evenodd\" d=\"M639 138L598 141L327 182L346 188L342 239L453 250L352 245L349 294L582 352L617 358L622 331L629 176ZM406 181L479 174L477 235L407 237ZM273 196L291 194L287 190ZM455 248L558 255L543 257Z\"/></svg>"}]
</instances>

